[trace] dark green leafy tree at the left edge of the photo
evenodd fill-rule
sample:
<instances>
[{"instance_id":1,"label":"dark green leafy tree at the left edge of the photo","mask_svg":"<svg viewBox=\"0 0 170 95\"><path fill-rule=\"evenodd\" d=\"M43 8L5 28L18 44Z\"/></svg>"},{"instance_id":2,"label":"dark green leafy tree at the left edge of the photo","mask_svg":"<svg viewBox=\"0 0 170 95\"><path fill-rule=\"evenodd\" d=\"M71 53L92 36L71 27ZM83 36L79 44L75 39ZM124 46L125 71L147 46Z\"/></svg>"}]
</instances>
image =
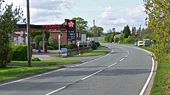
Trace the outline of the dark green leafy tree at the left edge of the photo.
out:
<instances>
[{"instance_id":1,"label":"dark green leafy tree at the left edge of the photo","mask_svg":"<svg viewBox=\"0 0 170 95\"><path fill-rule=\"evenodd\" d=\"M13 5L6 5L3 9L1 5L4 0L0 0L0 67L6 67L12 59L11 38L16 29L16 23L22 19L21 8Z\"/></svg>"}]
</instances>

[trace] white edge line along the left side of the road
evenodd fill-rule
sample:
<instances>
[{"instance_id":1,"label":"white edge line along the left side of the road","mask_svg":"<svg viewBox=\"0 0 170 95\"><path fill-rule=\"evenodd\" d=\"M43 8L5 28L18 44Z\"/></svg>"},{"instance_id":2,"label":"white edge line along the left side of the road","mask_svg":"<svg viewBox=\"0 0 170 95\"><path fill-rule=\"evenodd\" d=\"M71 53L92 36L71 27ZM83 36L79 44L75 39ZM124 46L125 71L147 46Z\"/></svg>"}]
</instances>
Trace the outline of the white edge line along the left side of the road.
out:
<instances>
[{"instance_id":1,"label":"white edge line along the left side of the road","mask_svg":"<svg viewBox=\"0 0 170 95\"><path fill-rule=\"evenodd\" d=\"M109 56L112 52L114 52L114 50L112 50L112 51L111 51L110 53L108 53L107 55L101 56L101 57L96 58L96 59L93 59L93 60L91 60L91 61L84 62L84 63L82 63L82 64L78 64L78 65L76 65L76 66L72 66L71 68L73 68L73 67L78 67L78 66L81 66L81 65L85 65L85 64L87 64L87 63L89 63L89 62L93 62L93 61L99 60L99 59L101 59L101 58L103 58L103 57ZM17 82L20 82L20 81L23 81L23 80L27 80L27 79L32 79L32 78L35 78L35 77L40 77L40 76L47 75L47 74L51 74L51 73L54 73L54 72L56 72L56 71L61 71L61 70L64 70L64 69L66 69L66 68L57 69L57 70L54 70L54 71L46 72L46 73L43 73L43 74L39 74L39 75L35 75L35 76L31 76L31 77L27 77L27 78L23 78L23 79L19 79L19 80L7 82L7 83L2 83L2 84L0 84L0 86L12 84L12 83L17 83Z\"/></svg>"}]
</instances>

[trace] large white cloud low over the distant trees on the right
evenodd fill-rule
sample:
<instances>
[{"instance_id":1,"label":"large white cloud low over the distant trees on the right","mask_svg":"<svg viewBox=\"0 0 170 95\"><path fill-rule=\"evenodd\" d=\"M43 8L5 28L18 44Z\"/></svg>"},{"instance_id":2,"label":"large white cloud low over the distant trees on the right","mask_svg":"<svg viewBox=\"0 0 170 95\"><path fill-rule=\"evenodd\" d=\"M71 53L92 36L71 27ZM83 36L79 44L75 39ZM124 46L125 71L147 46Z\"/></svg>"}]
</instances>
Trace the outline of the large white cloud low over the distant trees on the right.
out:
<instances>
[{"instance_id":1,"label":"large white cloud low over the distant trees on the right","mask_svg":"<svg viewBox=\"0 0 170 95\"><path fill-rule=\"evenodd\" d=\"M117 10L116 13L113 11L112 7L106 7L101 13L99 20L100 24L105 27L105 29L116 28L121 30L125 25L130 26L144 26L145 13L144 6L138 5L132 9Z\"/></svg>"}]
</instances>

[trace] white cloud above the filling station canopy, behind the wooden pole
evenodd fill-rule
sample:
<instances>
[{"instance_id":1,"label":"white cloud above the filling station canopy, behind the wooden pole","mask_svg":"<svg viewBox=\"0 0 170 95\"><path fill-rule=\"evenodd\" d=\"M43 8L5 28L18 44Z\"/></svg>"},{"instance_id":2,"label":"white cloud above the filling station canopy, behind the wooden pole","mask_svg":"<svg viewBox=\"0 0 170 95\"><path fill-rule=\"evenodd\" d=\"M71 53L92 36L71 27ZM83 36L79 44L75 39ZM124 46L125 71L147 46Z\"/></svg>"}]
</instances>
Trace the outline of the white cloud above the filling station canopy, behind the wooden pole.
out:
<instances>
[{"instance_id":1,"label":"white cloud above the filling station canopy, behind the wooden pole","mask_svg":"<svg viewBox=\"0 0 170 95\"><path fill-rule=\"evenodd\" d=\"M26 17L26 0L8 0L6 3L21 6ZM62 17L63 8L72 8L70 5L72 1L69 0L30 0L31 23L54 23Z\"/></svg>"}]
</instances>

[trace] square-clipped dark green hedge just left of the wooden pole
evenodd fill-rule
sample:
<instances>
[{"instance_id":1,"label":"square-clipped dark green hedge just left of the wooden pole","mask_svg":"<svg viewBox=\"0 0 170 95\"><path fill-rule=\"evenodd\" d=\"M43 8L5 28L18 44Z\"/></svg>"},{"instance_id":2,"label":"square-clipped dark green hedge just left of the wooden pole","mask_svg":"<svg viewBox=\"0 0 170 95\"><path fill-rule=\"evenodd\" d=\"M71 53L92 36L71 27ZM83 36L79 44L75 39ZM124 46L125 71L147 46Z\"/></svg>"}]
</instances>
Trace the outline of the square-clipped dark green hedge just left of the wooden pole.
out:
<instances>
[{"instance_id":1,"label":"square-clipped dark green hedge just left of the wooden pole","mask_svg":"<svg viewBox=\"0 0 170 95\"><path fill-rule=\"evenodd\" d=\"M27 46L25 45L19 45L19 46L13 46L13 61L27 61Z\"/></svg>"}]
</instances>

